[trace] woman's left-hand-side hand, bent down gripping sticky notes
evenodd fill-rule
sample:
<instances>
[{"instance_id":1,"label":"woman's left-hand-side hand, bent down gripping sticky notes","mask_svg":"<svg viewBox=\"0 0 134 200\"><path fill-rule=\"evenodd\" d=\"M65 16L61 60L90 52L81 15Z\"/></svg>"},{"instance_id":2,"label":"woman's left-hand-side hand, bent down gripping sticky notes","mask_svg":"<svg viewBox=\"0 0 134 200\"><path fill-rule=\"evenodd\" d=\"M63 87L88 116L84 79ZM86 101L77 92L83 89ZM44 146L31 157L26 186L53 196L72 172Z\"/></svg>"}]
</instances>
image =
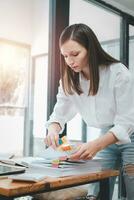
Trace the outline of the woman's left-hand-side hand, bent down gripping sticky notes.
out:
<instances>
[{"instance_id":1,"label":"woman's left-hand-side hand, bent down gripping sticky notes","mask_svg":"<svg viewBox=\"0 0 134 200\"><path fill-rule=\"evenodd\" d=\"M54 149L59 145L59 132L61 131L61 126L59 123L52 123L48 127L48 134L45 138L45 144L47 146L52 146Z\"/></svg>"}]
</instances>

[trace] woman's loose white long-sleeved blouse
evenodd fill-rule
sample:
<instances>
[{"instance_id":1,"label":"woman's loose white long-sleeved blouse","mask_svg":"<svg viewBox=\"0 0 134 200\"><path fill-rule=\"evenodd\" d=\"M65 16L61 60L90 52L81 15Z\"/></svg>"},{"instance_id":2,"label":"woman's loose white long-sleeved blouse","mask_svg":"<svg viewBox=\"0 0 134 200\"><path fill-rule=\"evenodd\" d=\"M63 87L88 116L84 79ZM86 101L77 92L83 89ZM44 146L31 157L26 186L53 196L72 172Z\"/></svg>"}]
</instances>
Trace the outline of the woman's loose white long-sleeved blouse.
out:
<instances>
[{"instance_id":1,"label":"woman's loose white long-sleeved blouse","mask_svg":"<svg viewBox=\"0 0 134 200\"><path fill-rule=\"evenodd\" d=\"M118 144L130 142L134 132L134 88L129 70L121 63L100 67L99 89L95 96L88 96L90 81L80 74L81 95L65 95L61 81L57 102L46 127L65 123L79 113L88 126L105 128L112 126Z\"/></svg>"}]
</instances>

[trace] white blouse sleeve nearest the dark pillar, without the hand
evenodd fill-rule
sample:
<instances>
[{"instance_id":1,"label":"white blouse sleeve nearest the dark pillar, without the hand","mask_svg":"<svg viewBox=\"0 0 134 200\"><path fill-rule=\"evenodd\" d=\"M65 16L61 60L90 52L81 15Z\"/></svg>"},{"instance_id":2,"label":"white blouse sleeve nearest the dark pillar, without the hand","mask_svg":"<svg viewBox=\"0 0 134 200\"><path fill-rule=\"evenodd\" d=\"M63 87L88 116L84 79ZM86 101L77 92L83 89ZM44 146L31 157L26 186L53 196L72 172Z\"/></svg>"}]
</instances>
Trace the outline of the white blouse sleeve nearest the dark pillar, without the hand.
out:
<instances>
[{"instance_id":1,"label":"white blouse sleeve nearest the dark pillar, without the hand","mask_svg":"<svg viewBox=\"0 0 134 200\"><path fill-rule=\"evenodd\" d=\"M70 95L66 95L63 91L62 84L60 81L60 86L58 88L58 94L57 94L57 102L54 106L54 110L49 118L49 120L46 122L46 128L52 123L57 122L60 124L62 132L64 130L65 123L67 123L69 120L71 120L75 115L77 111L73 104L73 102L70 100Z\"/></svg>"}]
</instances>

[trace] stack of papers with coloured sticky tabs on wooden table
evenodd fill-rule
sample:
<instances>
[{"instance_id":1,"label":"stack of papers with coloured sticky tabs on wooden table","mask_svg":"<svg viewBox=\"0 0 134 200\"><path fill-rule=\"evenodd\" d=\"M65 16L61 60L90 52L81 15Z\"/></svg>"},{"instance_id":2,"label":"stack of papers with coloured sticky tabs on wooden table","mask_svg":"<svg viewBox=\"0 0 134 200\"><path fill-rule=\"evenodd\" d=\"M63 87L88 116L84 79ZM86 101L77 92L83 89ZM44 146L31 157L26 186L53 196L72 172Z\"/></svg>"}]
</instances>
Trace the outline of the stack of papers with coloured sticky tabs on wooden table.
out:
<instances>
[{"instance_id":1,"label":"stack of papers with coloured sticky tabs on wooden table","mask_svg":"<svg viewBox=\"0 0 134 200\"><path fill-rule=\"evenodd\" d=\"M61 159L63 157L67 158L66 151L58 151L49 147L39 157L5 159L3 162L27 167L24 174L12 176L13 179L27 181L39 181L48 176L61 177L98 172L102 170L102 162L104 162L104 160L69 161ZM56 167L53 165L55 159L59 161Z\"/></svg>"}]
</instances>

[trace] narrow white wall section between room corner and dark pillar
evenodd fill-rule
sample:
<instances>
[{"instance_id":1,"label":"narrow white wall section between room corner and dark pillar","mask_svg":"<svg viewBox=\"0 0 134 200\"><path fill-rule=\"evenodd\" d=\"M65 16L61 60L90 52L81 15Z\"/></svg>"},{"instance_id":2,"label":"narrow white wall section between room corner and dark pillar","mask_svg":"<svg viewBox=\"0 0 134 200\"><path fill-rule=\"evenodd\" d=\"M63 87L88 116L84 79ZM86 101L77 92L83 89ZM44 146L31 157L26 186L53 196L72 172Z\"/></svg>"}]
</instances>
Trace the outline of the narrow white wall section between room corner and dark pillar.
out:
<instances>
[{"instance_id":1,"label":"narrow white wall section between room corner and dark pillar","mask_svg":"<svg viewBox=\"0 0 134 200\"><path fill-rule=\"evenodd\" d=\"M49 0L34 0L32 54L48 52Z\"/></svg>"}]
</instances>

